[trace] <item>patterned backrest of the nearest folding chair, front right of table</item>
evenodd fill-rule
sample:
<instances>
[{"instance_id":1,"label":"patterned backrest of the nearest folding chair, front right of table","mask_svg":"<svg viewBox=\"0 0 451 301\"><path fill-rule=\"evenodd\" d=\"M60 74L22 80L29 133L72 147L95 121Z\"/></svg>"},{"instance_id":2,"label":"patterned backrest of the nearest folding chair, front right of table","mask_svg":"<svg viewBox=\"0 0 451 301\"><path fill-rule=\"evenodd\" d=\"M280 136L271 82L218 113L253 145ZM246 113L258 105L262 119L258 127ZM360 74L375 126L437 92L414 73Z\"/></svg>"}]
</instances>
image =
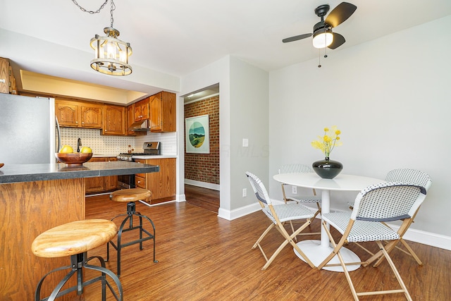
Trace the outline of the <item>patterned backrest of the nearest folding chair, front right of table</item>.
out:
<instances>
[{"instance_id":1,"label":"patterned backrest of the nearest folding chair, front right of table","mask_svg":"<svg viewBox=\"0 0 451 301\"><path fill-rule=\"evenodd\" d=\"M397 221L409 219L426 197L426 188L403 182L371 185L357 195L351 219Z\"/></svg>"}]
</instances>

